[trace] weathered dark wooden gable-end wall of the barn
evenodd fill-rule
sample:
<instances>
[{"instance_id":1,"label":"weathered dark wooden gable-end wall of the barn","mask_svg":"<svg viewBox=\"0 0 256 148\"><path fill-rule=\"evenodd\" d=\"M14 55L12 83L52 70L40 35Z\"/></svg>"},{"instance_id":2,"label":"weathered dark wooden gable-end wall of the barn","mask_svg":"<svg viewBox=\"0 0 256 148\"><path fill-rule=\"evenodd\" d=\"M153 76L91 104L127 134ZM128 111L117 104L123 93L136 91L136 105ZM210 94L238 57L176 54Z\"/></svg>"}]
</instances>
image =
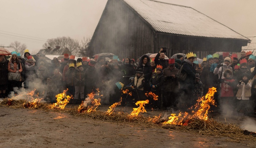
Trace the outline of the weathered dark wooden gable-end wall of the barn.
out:
<instances>
[{"instance_id":1,"label":"weathered dark wooden gable-end wall of the barn","mask_svg":"<svg viewBox=\"0 0 256 148\"><path fill-rule=\"evenodd\" d=\"M90 43L90 57L113 53L136 59L154 50L154 32L122 0L109 0Z\"/></svg>"}]
</instances>

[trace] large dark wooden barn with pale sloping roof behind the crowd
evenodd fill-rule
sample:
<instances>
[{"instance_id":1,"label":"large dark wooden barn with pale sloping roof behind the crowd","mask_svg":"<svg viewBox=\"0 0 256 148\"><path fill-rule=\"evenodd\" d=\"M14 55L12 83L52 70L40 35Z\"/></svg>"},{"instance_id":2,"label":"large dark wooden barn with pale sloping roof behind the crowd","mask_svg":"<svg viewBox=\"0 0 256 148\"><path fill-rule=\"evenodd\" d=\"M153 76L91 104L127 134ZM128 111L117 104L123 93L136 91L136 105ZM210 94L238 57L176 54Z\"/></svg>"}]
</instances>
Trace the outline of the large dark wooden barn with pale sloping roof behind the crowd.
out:
<instances>
[{"instance_id":1,"label":"large dark wooden barn with pale sloping roof behind the crowd","mask_svg":"<svg viewBox=\"0 0 256 148\"><path fill-rule=\"evenodd\" d=\"M108 0L89 44L88 55L113 53L137 58L167 47L167 56L193 51L240 52L245 36L197 10L153 0Z\"/></svg>"}]
</instances>

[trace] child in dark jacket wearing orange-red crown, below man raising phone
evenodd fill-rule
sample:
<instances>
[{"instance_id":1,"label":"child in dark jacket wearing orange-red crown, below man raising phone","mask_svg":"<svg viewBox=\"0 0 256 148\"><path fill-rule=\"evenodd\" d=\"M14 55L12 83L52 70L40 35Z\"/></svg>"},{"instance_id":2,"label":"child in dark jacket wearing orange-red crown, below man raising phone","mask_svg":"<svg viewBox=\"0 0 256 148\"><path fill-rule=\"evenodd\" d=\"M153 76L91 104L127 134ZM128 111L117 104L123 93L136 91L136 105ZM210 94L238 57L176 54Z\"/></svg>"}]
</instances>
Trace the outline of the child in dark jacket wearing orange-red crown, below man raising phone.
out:
<instances>
[{"instance_id":1,"label":"child in dark jacket wearing orange-red crown, below man raising phone","mask_svg":"<svg viewBox=\"0 0 256 148\"><path fill-rule=\"evenodd\" d=\"M153 104L153 110L160 110L160 107L162 105L161 95L162 95L162 87L163 87L164 81L165 81L165 76L163 76L163 73L162 73L162 66L157 65L156 73L152 75L148 83L151 87L151 91L156 95L158 95L158 100L156 101L153 100L153 102L151 101L151 103Z\"/></svg>"}]
</instances>

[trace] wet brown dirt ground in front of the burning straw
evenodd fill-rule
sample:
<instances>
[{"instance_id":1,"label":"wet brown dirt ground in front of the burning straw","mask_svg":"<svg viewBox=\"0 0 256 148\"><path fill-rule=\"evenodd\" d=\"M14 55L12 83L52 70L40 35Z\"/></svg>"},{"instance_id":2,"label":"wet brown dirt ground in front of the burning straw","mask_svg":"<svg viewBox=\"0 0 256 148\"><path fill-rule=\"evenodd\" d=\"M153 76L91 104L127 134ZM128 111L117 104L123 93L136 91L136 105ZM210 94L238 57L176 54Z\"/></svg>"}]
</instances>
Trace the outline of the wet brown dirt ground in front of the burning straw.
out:
<instances>
[{"instance_id":1,"label":"wet brown dirt ground in front of the burning straw","mask_svg":"<svg viewBox=\"0 0 256 148\"><path fill-rule=\"evenodd\" d=\"M98 109L106 111L108 107L102 105ZM115 110L131 112L132 106L118 106ZM143 115L148 117L160 113L165 112L147 110ZM219 115L212 117L230 123L242 121L241 118L224 118ZM0 147L256 147L256 143L250 141L232 142L230 137L148 128L132 123L108 122L5 105L0 105L0 121Z\"/></svg>"}]
</instances>

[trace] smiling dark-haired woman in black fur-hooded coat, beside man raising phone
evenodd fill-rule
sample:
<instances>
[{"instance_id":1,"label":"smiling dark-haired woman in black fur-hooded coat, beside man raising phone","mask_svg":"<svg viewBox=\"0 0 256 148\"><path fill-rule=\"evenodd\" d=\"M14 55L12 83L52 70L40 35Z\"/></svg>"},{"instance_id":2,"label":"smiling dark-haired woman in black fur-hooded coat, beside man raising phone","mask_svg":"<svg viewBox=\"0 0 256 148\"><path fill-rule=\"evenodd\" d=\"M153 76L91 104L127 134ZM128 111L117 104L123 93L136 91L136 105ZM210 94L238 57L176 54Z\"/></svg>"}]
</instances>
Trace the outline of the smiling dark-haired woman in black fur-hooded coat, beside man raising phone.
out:
<instances>
[{"instance_id":1,"label":"smiling dark-haired woman in black fur-hooded coat, beside man raising phone","mask_svg":"<svg viewBox=\"0 0 256 148\"><path fill-rule=\"evenodd\" d=\"M137 69L142 69L144 78L145 78L145 85L144 85L144 92L150 91L150 87L148 85L148 81L151 78L152 75L152 66L150 63L150 57L147 55L143 55L140 58L139 65L137 66Z\"/></svg>"}]
</instances>

